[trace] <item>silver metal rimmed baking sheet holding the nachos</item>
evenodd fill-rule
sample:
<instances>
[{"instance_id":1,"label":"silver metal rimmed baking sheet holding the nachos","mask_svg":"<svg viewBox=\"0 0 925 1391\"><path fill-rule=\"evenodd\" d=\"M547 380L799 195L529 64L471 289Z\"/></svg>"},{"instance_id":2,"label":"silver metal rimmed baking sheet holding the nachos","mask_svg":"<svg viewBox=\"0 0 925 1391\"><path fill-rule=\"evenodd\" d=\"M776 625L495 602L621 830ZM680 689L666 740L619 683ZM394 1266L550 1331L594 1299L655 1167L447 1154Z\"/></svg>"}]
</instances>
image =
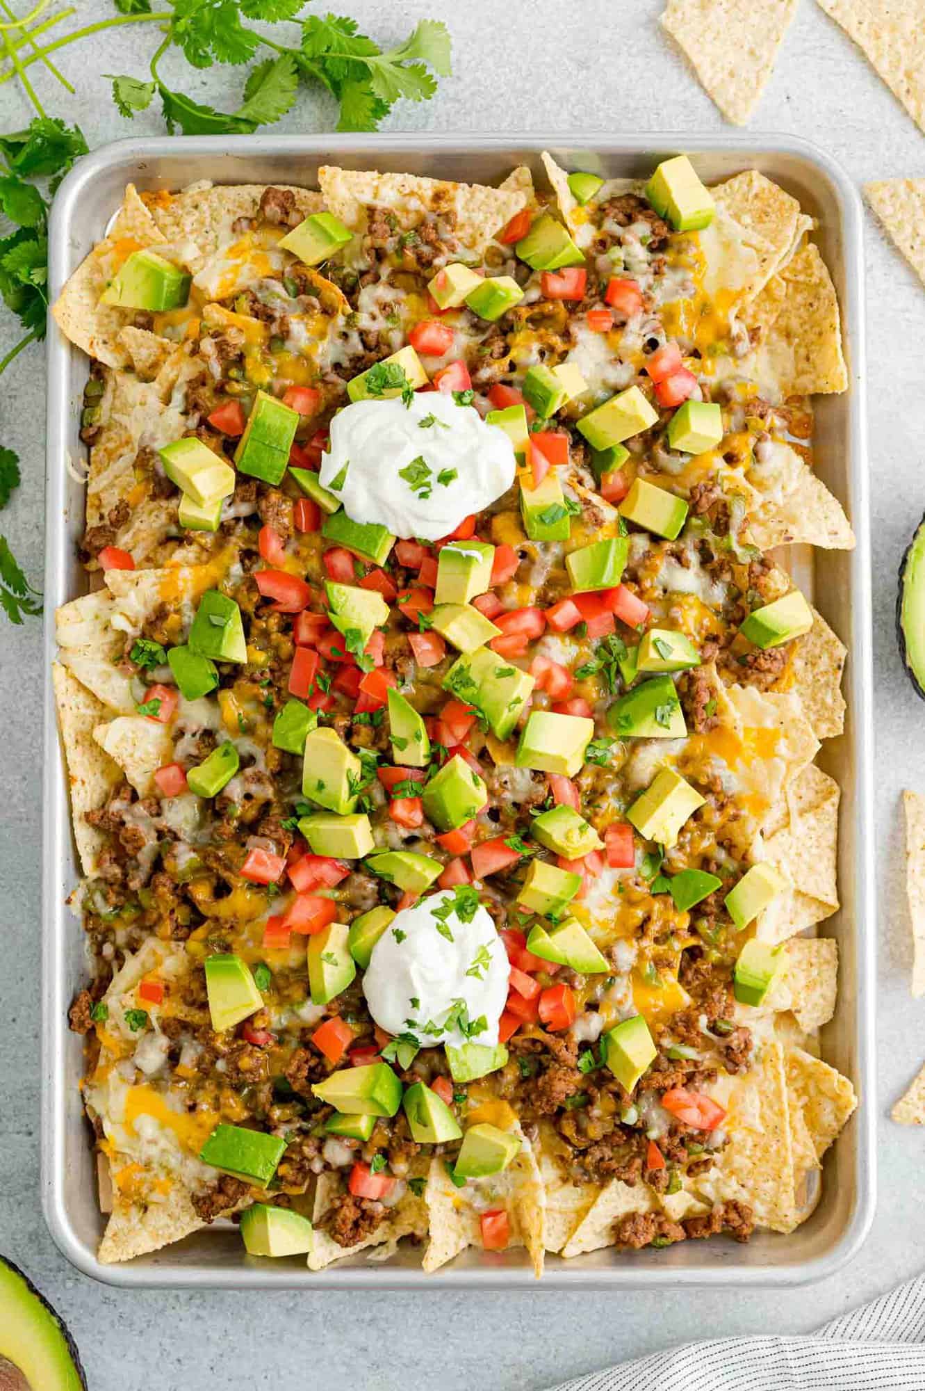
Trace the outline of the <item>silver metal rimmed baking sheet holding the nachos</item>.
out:
<instances>
[{"instance_id":1,"label":"silver metal rimmed baking sheet holding the nachos","mask_svg":"<svg viewBox=\"0 0 925 1391\"><path fill-rule=\"evenodd\" d=\"M858 1249L874 1216L874 907L871 597L864 423L864 282L861 209L843 171L806 140L761 135L672 136L272 136L118 140L83 159L61 185L49 234L50 292L61 285L104 234L126 182L140 189L178 189L196 179L217 184L317 186L321 163L353 168L407 170L471 182L497 182L515 164L529 164L543 182L539 159L550 149L567 168L640 177L669 154L693 156L707 182L757 167L800 199L818 223L817 239L842 305L850 388L817 398L817 469L842 499L857 548L817 551L815 602L849 644L844 734L824 746L822 765L842 785L839 843L840 912L822 932L838 938L840 992L822 1053L853 1078L861 1106L825 1157L822 1198L790 1237L757 1234L749 1245L683 1242L664 1251L592 1252L547 1259L543 1288L793 1285L821 1280ZM88 362L51 323L47 344L47 522L46 658L54 657L54 608L85 588L76 559L83 530L83 491L67 467L79 460L79 415ZM469 1251L449 1269L425 1276L419 1253L399 1251L388 1263L342 1262L312 1274L297 1260L254 1260L231 1227L194 1234L129 1264L100 1266L96 1246L104 1219L96 1198L96 1163L82 1114L78 1081L81 1039L67 1028L67 1007L86 974L83 933L65 907L78 879L64 766L51 683L44 705L44 894L43 894L43 1097L42 1191L49 1228L62 1253L86 1274L122 1287L222 1288L538 1288L521 1252L485 1256Z\"/></svg>"}]
</instances>

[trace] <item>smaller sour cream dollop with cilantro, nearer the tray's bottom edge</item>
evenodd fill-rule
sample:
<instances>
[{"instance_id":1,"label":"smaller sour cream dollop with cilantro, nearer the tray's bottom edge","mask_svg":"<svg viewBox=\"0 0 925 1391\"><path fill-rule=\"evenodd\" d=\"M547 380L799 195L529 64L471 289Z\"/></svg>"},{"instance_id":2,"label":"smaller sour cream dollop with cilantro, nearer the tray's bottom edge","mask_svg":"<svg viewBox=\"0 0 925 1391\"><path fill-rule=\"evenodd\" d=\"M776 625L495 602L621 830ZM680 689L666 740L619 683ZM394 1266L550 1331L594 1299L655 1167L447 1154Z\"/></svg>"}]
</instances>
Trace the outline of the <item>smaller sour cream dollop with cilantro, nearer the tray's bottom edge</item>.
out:
<instances>
[{"instance_id":1,"label":"smaller sour cream dollop with cilantro, nearer the tray's bottom edge","mask_svg":"<svg viewBox=\"0 0 925 1391\"><path fill-rule=\"evenodd\" d=\"M362 993L386 1034L412 1034L425 1047L467 1042L492 1047L507 999L507 953L490 914L479 904L462 922L456 901L453 890L444 889L396 914L372 949ZM435 918L435 908L446 917ZM482 1017L479 1032L460 1027ZM446 1027L432 1032L425 1024Z\"/></svg>"}]
</instances>

